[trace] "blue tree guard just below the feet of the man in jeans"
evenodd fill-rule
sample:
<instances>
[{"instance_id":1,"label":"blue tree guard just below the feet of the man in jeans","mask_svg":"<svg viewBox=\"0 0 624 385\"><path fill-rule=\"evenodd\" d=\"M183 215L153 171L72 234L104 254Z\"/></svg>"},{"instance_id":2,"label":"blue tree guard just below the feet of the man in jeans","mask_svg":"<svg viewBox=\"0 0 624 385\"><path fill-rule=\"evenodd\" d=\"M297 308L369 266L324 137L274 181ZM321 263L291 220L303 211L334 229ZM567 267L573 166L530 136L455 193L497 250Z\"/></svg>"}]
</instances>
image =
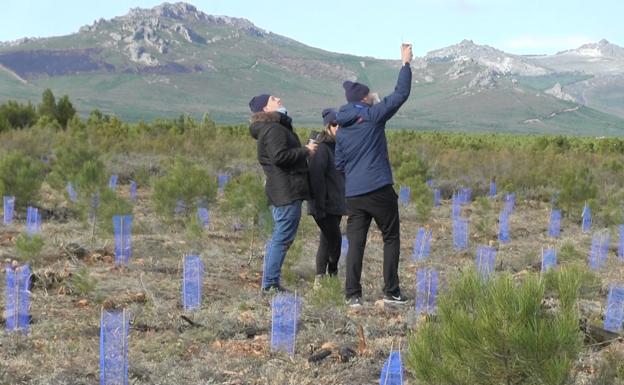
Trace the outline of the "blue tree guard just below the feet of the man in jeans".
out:
<instances>
[{"instance_id":1,"label":"blue tree guard just below the feet of the man in jeans","mask_svg":"<svg viewBox=\"0 0 624 385\"><path fill-rule=\"evenodd\" d=\"M271 302L271 351L294 355L301 299L296 294L280 293Z\"/></svg>"}]
</instances>

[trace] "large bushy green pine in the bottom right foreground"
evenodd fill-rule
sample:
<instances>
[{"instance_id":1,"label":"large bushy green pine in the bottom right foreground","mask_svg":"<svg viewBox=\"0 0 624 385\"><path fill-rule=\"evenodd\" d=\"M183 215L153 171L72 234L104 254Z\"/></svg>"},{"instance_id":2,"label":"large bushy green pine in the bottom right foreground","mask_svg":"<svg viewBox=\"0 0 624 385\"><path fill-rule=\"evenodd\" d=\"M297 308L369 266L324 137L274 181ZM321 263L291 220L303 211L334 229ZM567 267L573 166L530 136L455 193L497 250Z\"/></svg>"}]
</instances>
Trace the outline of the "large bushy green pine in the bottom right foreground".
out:
<instances>
[{"instance_id":1,"label":"large bushy green pine in the bottom right foreground","mask_svg":"<svg viewBox=\"0 0 624 385\"><path fill-rule=\"evenodd\" d=\"M438 320L409 337L407 365L424 384L564 384L582 347L575 272L552 272L555 303L537 274L482 280L464 272L439 297Z\"/></svg>"}]
</instances>

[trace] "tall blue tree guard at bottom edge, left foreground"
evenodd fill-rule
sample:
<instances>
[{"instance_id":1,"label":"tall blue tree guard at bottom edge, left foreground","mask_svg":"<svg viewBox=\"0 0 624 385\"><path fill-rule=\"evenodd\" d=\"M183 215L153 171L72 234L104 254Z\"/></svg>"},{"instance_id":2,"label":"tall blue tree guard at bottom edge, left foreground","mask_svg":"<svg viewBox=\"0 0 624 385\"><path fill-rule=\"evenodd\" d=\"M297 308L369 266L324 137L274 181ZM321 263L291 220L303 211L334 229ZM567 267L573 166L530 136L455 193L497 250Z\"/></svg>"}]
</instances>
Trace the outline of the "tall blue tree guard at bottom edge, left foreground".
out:
<instances>
[{"instance_id":1,"label":"tall blue tree guard at bottom edge, left foreground","mask_svg":"<svg viewBox=\"0 0 624 385\"><path fill-rule=\"evenodd\" d=\"M100 385L128 385L128 331L126 309L104 310L100 317Z\"/></svg>"}]
</instances>

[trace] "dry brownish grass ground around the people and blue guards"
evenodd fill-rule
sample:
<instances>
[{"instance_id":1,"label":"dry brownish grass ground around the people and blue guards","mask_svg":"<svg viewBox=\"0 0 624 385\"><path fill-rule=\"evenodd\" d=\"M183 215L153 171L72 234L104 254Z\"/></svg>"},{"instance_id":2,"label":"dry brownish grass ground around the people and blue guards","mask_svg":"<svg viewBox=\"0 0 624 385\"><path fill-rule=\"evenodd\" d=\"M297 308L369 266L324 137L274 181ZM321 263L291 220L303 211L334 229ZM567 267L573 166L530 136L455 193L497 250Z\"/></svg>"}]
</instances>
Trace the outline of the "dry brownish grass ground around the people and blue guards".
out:
<instances>
[{"instance_id":1,"label":"dry brownish grass ground around the people and blue guards","mask_svg":"<svg viewBox=\"0 0 624 385\"><path fill-rule=\"evenodd\" d=\"M120 194L127 194L121 186ZM400 278L403 290L414 295L414 277L420 266L411 261L411 247L417 228L413 206L402 210L402 262ZM500 203L484 209L472 205L465 215L474 222L491 216L496 226ZM158 222L150 208L149 191L141 190L135 209L137 234L133 238L134 257L129 268L113 267L112 239L98 233L91 240L90 229L76 220L47 222L46 246L42 257L34 261L36 273L58 273L49 286L35 285L32 292L31 332L27 337L0 333L0 383L2 384L97 384L99 383L99 315L101 306L125 306L132 315L129 336L130 382L132 384L373 384L393 342L405 344L407 332L419 317L414 303L401 308L383 307L381 298L382 242L378 230L369 235L363 271L365 307L353 311L344 306L313 305L310 299L314 276L314 255L318 234L310 218L303 219L298 256L290 270L294 282L290 288L303 295L304 307L294 357L273 354L268 348L270 298L260 294L263 243L253 245L250 259L249 237L234 231L230 218L212 210L212 225L201 236L190 235L182 227ZM563 222L562 238L546 237L549 211L546 204L520 201L511 216L511 239L501 245L497 269L522 271L539 266L541 248L550 244L571 245L586 254L590 235L579 226ZM473 252L456 253L452 249L450 207L448 202L435 208L428 222L433 230L431 263L441 271L441 282L452 279L463 266L473 263ZM0 253L13 255L11 234L22 231L21 224L0 228ZM486 229L487 230L487 229ZM483 233L471 224L471 250L487 244L496 228ZM612 242L617 240L612 237ZM84 246L86 258L68 255L69 243ZM204 298L200 310L186 314L198 326L181 316L181 261L186 253L200 252L206 265ZM590 293L586 301L594 312L602 311L605 288L621 279L622 264L610 253L609 268L600 273L601 290ZM583 260L584 261L584 260ZM250 262L250 263L249 263ZM83 270L86 269L86 270ZM86 271L95 287L81 295L70 290L71 274ZM344 282L344 278L340 278ZM593 296L593 297L591 297ZM0 294L4 301L4 292ZM600 320L600 314L591 314ZM363 328L362 349L359 327ZM254 331L253 333L250 333ZM251 336L251 334L255 334ZM332 355L319 363L308 363L311 352L330 343ZM337 348L349 346L359 354L349 362L340 362ZM622 349L620 345L614 345ZM575 369L577 383L595 377L596 355L587 350ZM592 377L593 376L593 377ZM409 379L409 383L416 383Z\"/></svg>"}]
</instances>

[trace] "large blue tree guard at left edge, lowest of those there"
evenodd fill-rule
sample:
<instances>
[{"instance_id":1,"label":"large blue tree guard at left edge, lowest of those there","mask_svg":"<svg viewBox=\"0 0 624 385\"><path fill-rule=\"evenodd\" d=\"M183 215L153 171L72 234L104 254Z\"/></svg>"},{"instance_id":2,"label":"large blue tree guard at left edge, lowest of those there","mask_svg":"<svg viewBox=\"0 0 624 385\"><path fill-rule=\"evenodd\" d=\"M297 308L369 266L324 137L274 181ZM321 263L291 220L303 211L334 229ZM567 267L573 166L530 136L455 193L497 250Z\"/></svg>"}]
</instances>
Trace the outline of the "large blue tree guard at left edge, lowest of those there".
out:
<instances>
[{"instance_id":1,"label":"large blue tree guard at left edge, lowest of those there","mask_svg":"<svg viewBox=\"0 0 624 385\"><path fill-rule=\"evenodd\" d=\"M30 267L6 268L6 329L28 333L30 324Z\"/></svg>"}]
</instances>

